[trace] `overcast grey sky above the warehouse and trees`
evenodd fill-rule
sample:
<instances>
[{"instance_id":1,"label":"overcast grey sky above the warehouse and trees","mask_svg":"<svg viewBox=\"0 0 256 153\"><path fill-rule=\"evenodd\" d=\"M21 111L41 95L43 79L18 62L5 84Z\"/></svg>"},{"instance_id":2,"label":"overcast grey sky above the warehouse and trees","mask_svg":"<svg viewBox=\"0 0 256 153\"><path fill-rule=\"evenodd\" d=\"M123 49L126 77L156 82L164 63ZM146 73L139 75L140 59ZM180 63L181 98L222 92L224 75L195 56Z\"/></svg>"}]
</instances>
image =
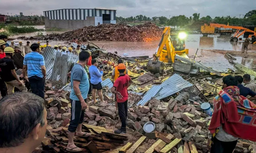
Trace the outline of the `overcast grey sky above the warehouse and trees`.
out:
<instances>
[{"instance_id":1,"label":"overcast grey sky above the warehouse and trees","mask_svg":"<svg viewBox=\"0 0 256 153\"><path fill-rule=\"evenodd\" d=\"M0 13L9 15L43 15L43 11L62 8L106 8L117 10L116 16L237 16L256 9L256 0L0 0Z\"/></svg>"}]
</instances>

